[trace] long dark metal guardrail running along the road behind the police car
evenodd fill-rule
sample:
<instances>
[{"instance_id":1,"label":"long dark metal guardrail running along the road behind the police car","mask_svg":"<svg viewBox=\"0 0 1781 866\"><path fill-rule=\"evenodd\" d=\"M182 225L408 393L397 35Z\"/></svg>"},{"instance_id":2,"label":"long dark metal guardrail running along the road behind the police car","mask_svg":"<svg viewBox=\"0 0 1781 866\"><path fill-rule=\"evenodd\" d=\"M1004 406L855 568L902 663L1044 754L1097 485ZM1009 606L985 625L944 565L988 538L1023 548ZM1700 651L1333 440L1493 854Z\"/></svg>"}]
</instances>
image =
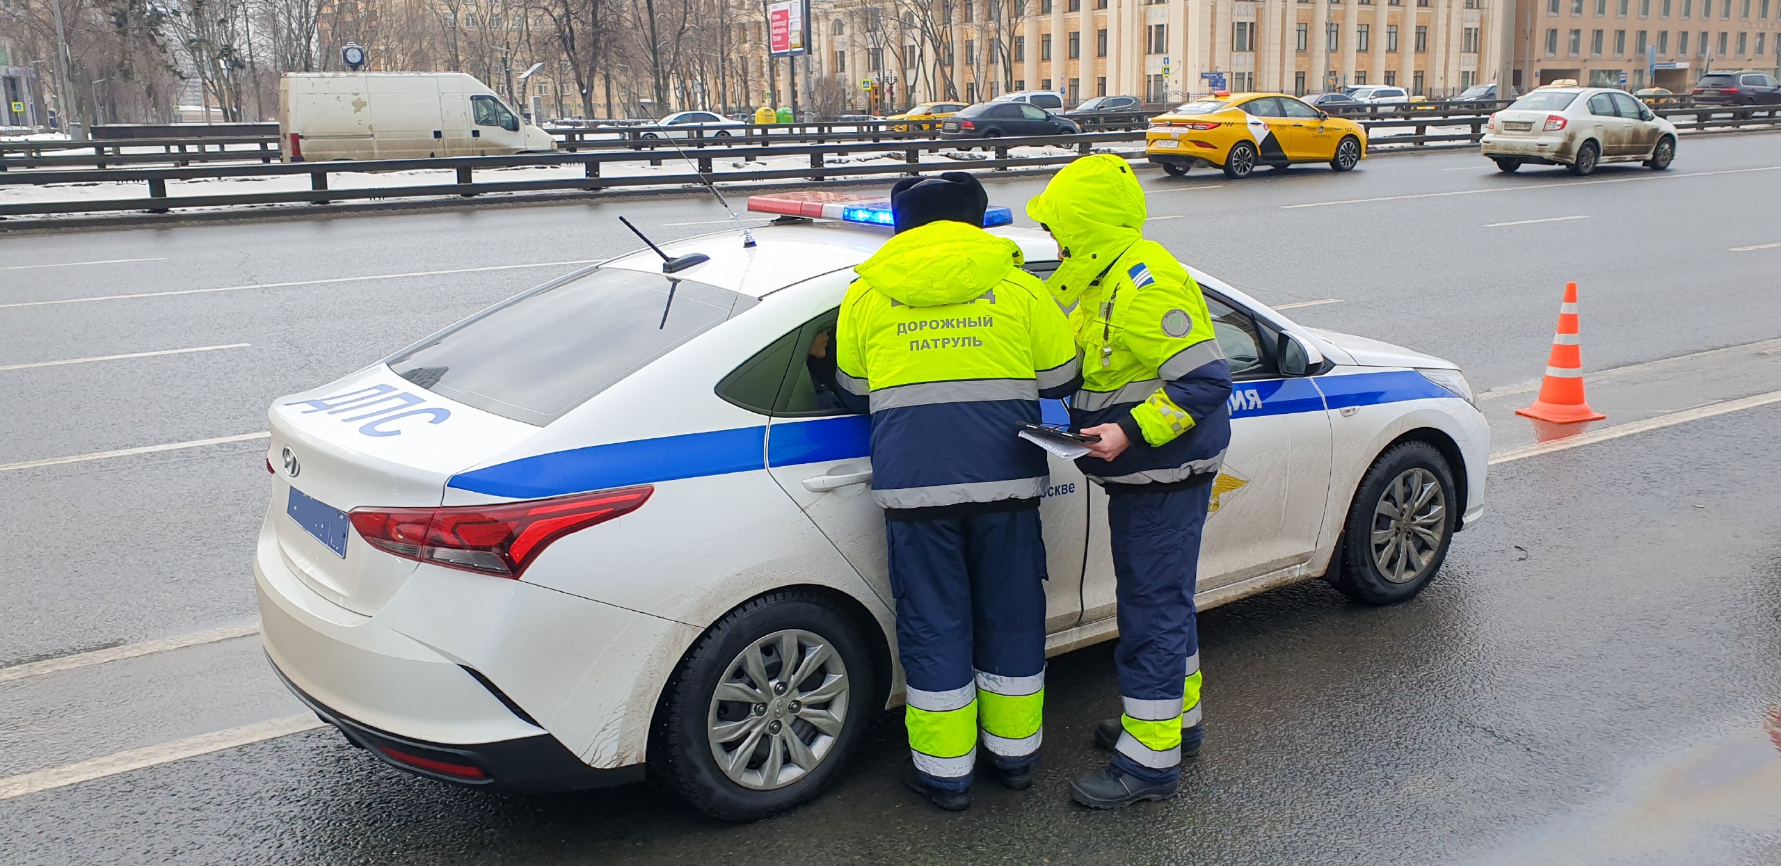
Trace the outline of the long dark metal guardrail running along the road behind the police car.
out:
<instances>
[{"instance_id":1,"label":"long dark metal guardrail running along the road behind the police car","mask_svg":"<svg viewBox=\"0 0 1781 866\"><path fill-rule=\"evenodd\" d=\"M1662 109L1660 116L1671 118L1678 130L1712 132L1738 127L1781 127L1781 105L1760 107L1758 110L1733 110L1729 107L1692 107ZM1681 119L1681 118L1694 118ZM1455 146L1476 143L1482 137L1489 114L1476 110L1462 116L1452 112L1414 112L1396 114L1382 119L1364 121L1368 132L1386 128L1414 128L1411 135L1371 137L1370 150L1384 146ZM834 125L832 125L834 127ZM1430 127L1466 127L1466 132L1434 132ZM148 210L166 214L171 208L192 207L228 207L228 205L271 205L271 203L331 203L351 200L388 200L388 198L426 198L426 196L463 196L472 198L488 192L543 192L543 191L602 191L614 187L703 184L705 178L721 182L769 182L769 180L828 180L841 176L866 175L923 175L956 167L974 169L1012 169L1054 166L1090 153L1095 144L1115 144L1143 141L1143 130L1085 132L1079 135L1038 135L1038 137L1001 137L1001 139L933 139L933 137L898 137L874 132L810 132L798 139L826 137L821 143L787 144L785 139L760 146L760 139L737 139L720 148L687 150L696 173L684 175L639 175L639 176L602 176L600 167L620 162L679 160L680 155L664 143L652 148L598 148L586 151L525 153L511 157L436 157L436 159L395 159L395 160L333 160L333 162L262 162L230 166L169 166L169 167L94 167L94 169L59 169L59 171L14 171L0 173L0 187L5 185L45 185L45 184L103 184L103 182L146 182L146 198L107 198L84 201L21 201L0 203L0 217L45 216L75 212L123 212ZM841 141L837 141L841 139ZM873 141L862 141L873 139ZM679 139L677 139L679 141ZM686 143L680 143L682 148ZM1010 148L1054 146L1070 148L1069 155L1045 157L1010 157ZM923 153L990 150L988 159L969 159L960 162L921 162ZM899 166L830 166L825 157L855 153L901 153ZM712 160L755 160L766 157L803 155L810 159L809 167L725 171L714 173ZM479 169L504 167L557 167L582 166L579 178L538 178L538 180L483 180L474 173ZM454 169L456 184L397 185L397 187L362 187L329 189L328 176L342 173L379 173L379 171L417 171L417 169ZM308 191L283 192L219 192L199 196L169 196L169 180L205 180L205 178L265 178L306 175Z\"/></svg>"}]
</instances>

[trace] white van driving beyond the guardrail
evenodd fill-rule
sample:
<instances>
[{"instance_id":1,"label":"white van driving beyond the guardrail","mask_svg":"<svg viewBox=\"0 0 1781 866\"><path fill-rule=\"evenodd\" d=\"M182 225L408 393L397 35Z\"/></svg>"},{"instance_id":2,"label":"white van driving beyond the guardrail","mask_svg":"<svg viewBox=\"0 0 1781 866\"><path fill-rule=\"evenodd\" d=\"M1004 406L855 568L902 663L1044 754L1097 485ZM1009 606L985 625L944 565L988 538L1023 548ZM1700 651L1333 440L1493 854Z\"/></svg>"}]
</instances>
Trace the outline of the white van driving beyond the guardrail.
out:
<instances>
[{"instance_id":1,"label":"white van driving beyond the guardrail","mask_svg":"<svg viewBox=\"0 0 1781 866\"><path fill-rule=\"evenodd\" d=\"M285 73L278 146L287 162L499 157L556 150L465 73Z\"/></svg>"}]
</instances>

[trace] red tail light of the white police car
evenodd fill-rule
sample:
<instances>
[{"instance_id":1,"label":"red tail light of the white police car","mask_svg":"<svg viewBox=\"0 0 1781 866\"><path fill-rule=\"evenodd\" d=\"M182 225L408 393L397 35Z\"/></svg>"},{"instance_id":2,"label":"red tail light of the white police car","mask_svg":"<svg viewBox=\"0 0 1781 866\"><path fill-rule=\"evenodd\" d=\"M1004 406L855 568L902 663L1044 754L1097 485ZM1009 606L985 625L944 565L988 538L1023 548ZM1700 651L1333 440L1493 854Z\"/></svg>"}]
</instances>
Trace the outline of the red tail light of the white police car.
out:
<instances>
[{"instance_id":1,"label":"red tail light of the white police car","mask_svg":"<svg viewBox=\"0 0 1781 866\"><path fill-rule=\"evenodd\" d=\"M447 508L356 508L372 547L404 560L518 579L550 542L636 511L654 486Z\"/></svg>"}]
</instances>

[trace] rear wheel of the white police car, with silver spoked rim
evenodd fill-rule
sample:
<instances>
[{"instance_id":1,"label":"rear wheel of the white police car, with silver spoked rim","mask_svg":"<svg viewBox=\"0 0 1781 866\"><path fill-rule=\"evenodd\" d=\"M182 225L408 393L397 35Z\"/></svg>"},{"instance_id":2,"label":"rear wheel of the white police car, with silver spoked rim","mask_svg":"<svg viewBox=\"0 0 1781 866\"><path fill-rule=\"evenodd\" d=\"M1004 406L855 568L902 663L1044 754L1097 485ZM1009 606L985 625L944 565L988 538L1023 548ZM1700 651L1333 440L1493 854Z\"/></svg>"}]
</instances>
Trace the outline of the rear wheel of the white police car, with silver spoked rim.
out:
<instances>
[{"instance_id":1,"label":"rear wheel of the white police car, with silver spoked rim","mask_svg":"<svg viewBox=\"0 0 1781 866\"><path fill-rule=\"evenodd\" d=\"M803 681L784 675L787 634L800 665L821 661ZM759 675L768 682L753 684L759 681L748 672L748 661L759 661ZM753 599L707 629L663 690L650 732L648 773L695 809L725 821L755 821L801 805L841 775L874 711L883 706L873 677L873 656L860 627L821 595L782 590ZM832 691L837 679L841 693L828 695L823 709L798 706L798 695ZM720 700L720 686L741 686L743 691L730 693L752 691L766 700L753 707ZM825 727L812 725L805 713L826 713ZM727 722L730 716L736 718ZM753 729L736 727L755 720L760 722ZM718 731L725 725L739 732L720 741ZM803 743L814 766L798 766L787 738ZM728 745L737 745L730 756L748 748L741 770L720 764L718 752ZM769 779L775 756L787 763ZM789 779L785 766L796 770Z\"/></svg>"}]
</instances>

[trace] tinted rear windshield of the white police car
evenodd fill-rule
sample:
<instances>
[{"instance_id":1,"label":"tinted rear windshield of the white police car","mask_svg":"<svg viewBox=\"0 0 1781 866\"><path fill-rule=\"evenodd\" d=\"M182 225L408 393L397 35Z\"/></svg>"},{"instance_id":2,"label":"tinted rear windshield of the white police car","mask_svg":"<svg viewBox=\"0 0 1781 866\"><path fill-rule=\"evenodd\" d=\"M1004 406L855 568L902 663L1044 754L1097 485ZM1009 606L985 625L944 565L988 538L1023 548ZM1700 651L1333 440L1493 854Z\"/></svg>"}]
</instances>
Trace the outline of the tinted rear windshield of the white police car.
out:
<instances>
[{"instance_id":1,"label":"tinted rear windshield of the white police car","mask_svg":"<svg viewBox=\"0 0 1781 866\"><path fill-rule=\"evenodd\" d=\"M465 319L388 365L442 397L543 426L753 305L705 283L602 267Z\"/></svg>"}]
</instances>

